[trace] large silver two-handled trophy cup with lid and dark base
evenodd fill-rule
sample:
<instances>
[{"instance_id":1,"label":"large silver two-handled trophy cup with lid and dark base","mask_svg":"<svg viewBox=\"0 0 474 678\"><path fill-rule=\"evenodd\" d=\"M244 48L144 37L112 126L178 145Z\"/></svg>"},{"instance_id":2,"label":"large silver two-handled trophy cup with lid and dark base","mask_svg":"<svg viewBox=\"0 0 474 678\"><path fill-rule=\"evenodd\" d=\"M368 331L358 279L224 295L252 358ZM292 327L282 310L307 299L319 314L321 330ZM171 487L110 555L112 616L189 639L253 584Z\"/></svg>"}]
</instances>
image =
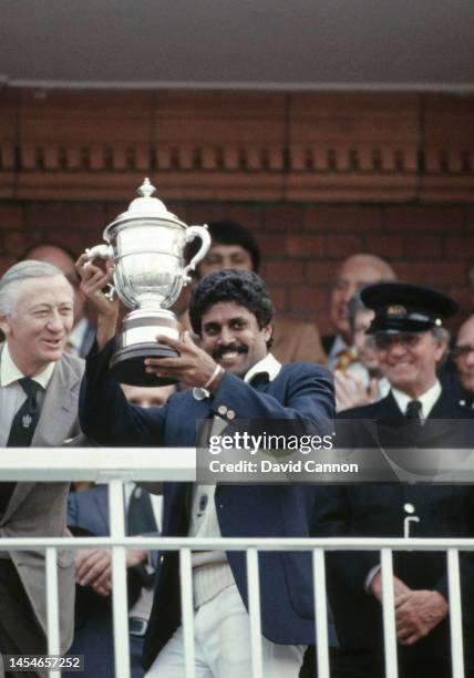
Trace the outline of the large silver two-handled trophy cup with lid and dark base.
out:
<instances>
[{"instance_id":1,"label":"large silver two-handled trophy cup with lid and dark base","mask_svg":"<svg viewBox=\"0 0 474 678\"><path fill-rule=\"evenodd\" d=\"M110 224L103 234L107 245L86 249L89 260L100 257L114 264L114 285L120 299L132 312L124 318L118 350L111 360L111 371L122 383L165 386L145 372L145 358L175 357L177 353L156 341L157 335L179 339L179 326L168 310L190 280L193 270L210 247L207 226L186 226L165 205L152 197L155 187L145 178L127 212ZM194 238L200 248L187 266L184 250Z\"/></svg>"}]
</instances>

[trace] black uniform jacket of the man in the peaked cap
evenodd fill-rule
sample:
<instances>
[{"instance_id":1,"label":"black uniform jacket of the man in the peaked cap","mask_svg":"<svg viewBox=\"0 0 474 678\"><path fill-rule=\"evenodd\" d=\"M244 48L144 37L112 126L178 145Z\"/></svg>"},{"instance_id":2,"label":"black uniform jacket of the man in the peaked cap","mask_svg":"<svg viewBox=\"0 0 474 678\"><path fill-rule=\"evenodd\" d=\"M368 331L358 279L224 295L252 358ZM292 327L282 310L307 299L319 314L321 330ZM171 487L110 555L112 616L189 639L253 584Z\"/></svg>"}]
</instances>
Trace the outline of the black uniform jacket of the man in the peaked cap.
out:
<instances>
[{"instance_id":1,"label":"black uniform jacket of the man in the peaked cap","mask_svg":"<svg viewBox=\"0 0 474 678\"><path fill-rule=\"evenodd\" d=\"M372 420L353 429L354 446L383 445L380 454L390 456L390 440L398 445L406 420L391 393L371 405L347 410L338 415L347 420ZM425 429L433 420L450 420L433 427L435 446L456 445L456 431L466 431L474 413L462 408L449 392L442 392L434 404ZM471 420L471 421L468 421ZM447 425L449 424L449 425ZM457 424L457 425L456 425ZM392 431L392 439L390 438ZM426 429L427 430L427 429ZM432 445L433 441L426 444ZM465 441L464 441L465 444ZM387 446L385 446L387 445ZM474 446L474 441L471 446ZM416 450L411 450L416 455ZM413 474L408 473L409 477ZM473 537L474 490L471 485L401 482L320 487L315 536L403 536L405 505L412 504L419 523L412 523L413 537ZM394 574L414 589L436 589L447 598L446 557L439 552L394 552ZM342 648L381 651L383 647L381 605L365 590L372 567L380 563L379 552L328 552L329 598L334 614L338 639ZM461 555L465 646L474 645L474 559ZM445 619L409 651L435 659L445 656L449 645L449 620Z\"/></svg>"}]
</instances>

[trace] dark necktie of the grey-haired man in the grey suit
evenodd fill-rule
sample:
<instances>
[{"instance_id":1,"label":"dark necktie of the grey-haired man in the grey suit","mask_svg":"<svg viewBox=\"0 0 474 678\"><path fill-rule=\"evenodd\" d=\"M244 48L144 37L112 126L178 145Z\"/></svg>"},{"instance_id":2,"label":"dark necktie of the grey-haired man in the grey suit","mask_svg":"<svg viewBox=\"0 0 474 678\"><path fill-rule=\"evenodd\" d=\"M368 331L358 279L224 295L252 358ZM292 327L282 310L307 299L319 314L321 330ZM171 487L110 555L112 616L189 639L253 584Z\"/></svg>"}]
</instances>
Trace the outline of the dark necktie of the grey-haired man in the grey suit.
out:
<instances>
[{"instance_id":1,"label":"dark necktie of the grey-haired man in the grey suit","mask_svg":"<svg viewBox=\"0 0 474 678\"><path fill-rule=\"evenodd\" d=\"M7 448L29 448L40 418L37 394L41 387L29 377L19 379L18 383L27 393L27 400L13 417ZM4 513L16 485L17 483L0 483L0 513Z\"/></svg>"}]
</instances>

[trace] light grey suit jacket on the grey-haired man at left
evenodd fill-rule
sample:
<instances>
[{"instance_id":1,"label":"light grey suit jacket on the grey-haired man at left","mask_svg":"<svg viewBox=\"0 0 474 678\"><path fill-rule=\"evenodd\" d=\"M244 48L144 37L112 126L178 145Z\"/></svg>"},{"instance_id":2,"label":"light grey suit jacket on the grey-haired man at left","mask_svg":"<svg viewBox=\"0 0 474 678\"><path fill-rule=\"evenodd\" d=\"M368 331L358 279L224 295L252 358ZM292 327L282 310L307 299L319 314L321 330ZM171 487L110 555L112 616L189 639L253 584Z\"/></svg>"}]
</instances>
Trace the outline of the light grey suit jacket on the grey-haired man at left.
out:
<instances>
[{"instance_id":1,"label":"light grey suit jacket on the grey-haired man at left","mask_svg":"<svg viewBox=\"0 0 474 678\"><path fill-rule=\"evenodd\" d=\"M1 347L0 347L1 356ZM85 444L78 422L78 398L84 361L64 353L56 362L48 384L32 446L61 446L68 439ZM66 536L69 483L17 483L0 520L0 538ZM10 552L37 619L47 629L44 554ZM74 553L59 551L59 606L61 649L71 645L74 626ZM25 648L28 654L28 648Z\"/></svg>"}]
</instances>

